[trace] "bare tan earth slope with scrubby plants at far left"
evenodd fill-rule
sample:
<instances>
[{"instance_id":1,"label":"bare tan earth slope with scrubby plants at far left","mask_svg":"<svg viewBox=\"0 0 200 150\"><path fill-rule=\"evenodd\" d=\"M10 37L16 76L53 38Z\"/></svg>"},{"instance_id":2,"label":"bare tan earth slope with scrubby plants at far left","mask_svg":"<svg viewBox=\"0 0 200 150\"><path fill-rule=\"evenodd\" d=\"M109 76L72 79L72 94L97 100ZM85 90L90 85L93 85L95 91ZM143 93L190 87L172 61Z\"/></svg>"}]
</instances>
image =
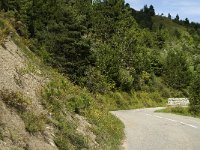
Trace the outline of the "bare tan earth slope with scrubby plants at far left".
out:
<instances>
[{"instance_id":1,"label":"bare tan earth slope with scrubby plants at far left","mask_svg":"<svg viewBox=\"0 0 200 150\"><path fill-rule=\"evenodd\" d=\"M40 116L48 114L38 97L38 90L45 84L45 79L24 72L28 67L27 58L11 39L7 38L1 44L0 54L1 149L57 149L53 141L54 129L38 120ZM22 109L26 112L19 114ZM43 134L27 132L35 128L30 124L31 121L34 121L32 123L35 126L43 128Z\"/></svg>"}]
</instances>

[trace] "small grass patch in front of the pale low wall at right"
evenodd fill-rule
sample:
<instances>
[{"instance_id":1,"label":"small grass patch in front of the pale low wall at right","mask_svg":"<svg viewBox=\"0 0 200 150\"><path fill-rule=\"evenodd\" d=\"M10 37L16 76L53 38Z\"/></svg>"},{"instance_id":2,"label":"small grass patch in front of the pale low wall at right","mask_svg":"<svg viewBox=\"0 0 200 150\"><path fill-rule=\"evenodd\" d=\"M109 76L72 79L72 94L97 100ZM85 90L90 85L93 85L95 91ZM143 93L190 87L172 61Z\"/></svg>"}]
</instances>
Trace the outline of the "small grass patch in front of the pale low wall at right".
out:
<instances>
[{"instance_id":1,"label":"small grass patch in front of the pale low wall at right","mask_svg":"<svg viewBox=\"0 0 200 150\"><path fill-rule=\"evenodd\" d=\"M167 107L165 109L157 110L156 112L163 112L163 113L173 113L173 114L178 114L178 115L183 115L183 116L191 116L191 117L197 117L200 118L200 114L196 115L193 114L190 111L189 107Z\"/></svg>"}]
</instances>

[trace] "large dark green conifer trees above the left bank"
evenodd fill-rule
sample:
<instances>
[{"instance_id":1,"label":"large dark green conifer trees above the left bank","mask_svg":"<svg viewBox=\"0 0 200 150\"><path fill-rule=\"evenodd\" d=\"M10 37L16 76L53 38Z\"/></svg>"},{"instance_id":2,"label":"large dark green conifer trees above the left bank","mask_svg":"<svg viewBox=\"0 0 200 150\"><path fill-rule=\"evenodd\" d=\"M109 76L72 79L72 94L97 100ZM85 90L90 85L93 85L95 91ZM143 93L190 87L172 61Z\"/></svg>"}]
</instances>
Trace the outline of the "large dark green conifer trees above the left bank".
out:
<instances>
[{"instance_id":1,"label":"large dark green conifer trees above the left bank","mask_svg":"<svg viewBox=\"0 0 200 150\"><path fill-rule=\"evenodd\" d=\"M91 64L91 54L90 40L85 37L86 17L78 10L78 2L72 2L32 0L27 9L27 26L35 51L42 55L41 47L45 49L49 54L46 62L77 82Z\"/></svg>"}]
</instances>

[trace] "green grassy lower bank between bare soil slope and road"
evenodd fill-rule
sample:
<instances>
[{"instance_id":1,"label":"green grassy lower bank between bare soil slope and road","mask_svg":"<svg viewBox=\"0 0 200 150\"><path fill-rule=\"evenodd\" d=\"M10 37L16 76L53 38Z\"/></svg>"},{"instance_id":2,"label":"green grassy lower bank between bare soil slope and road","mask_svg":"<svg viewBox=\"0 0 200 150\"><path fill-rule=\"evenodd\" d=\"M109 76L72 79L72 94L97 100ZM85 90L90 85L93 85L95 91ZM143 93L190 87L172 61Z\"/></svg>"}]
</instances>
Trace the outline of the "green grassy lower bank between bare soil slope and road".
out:
<instances>
[{"instance_id":1,"label":"green grassy lower bank between bare soil slope and road","mask_svg":"<svg viewBox=\"0 0 200 150\"><path fill-rule=\"evenodd\" d=\"M78 113L87 118L92 124L90 130L97 136L99 149L119 149L124 136L123 124L109 113L107 106L98 97L95 98L86 89L81 89L63 76L54 74L42 92L42 102L52 113L52 123L57 128L55 141L60 149L88 148L87 138L76 132L77 123L69 122L66 112L71 116Z\"/></svg>"}]
</instances>

